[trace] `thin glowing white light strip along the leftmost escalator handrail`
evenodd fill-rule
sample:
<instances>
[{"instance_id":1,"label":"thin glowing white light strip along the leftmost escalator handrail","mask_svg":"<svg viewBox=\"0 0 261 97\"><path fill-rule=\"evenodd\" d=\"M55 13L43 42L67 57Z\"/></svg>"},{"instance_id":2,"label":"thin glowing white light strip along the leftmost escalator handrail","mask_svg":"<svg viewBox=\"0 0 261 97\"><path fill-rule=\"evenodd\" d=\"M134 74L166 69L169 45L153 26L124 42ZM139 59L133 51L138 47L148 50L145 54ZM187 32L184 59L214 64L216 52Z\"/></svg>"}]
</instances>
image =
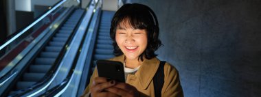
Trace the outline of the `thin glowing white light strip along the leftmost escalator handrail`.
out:
<instances>
[{"instance_id":1,"label":"thin glowing white light strip along the leftmost escalator handrail","mask_svg":"<svg viewBox=\"0 0 261 97\"><path fill-rule=\"evenodd\" d=\"M32 23L31 25L29 25L28 27L26 27L25 29L23 29L23 31L19 32L18 34L16 34L13 38L11 38L10 40L8 40L8 42L5 42L5 44L0 46L0 51L5 48L5 46L7 46L8 44L10 44L12 41L16 40L16 38L19 38L19 36L21 36L23 33L25 33L25 31L27 31L28 29L30 29L31 27L33 27L36 23L38 23L40 20L42 20L43 18L45 18L45 16L47 16L48 14L50 14L52 11L56 10L56 8L58 8L60 5L62 5L65 1L67 0L63 0L60 3L58 3L56 6L54 6L54 8L52 8L51 10L49 10L48 12L46 12L45 14L43 14L43 16L41 16L40 18L38 18L37 20L34 21L34 23Z\"/></svg>"}]
</instances>

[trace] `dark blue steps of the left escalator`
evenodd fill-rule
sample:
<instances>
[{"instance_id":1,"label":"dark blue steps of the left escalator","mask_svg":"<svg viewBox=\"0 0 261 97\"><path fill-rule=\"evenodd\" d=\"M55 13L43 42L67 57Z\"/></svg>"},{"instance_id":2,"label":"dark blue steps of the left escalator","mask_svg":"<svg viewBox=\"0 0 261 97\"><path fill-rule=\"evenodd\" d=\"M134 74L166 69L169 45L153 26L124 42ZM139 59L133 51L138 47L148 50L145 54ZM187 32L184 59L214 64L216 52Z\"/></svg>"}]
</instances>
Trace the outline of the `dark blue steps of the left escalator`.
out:
<instances>
[{"instance_id":1,"label":"dark blue steps of the left escalator","mask_svg":"<svg viewBox=\"0 0 261 97\"><path fill-rule=\"evenodd\" d=\"M37 83L37 81L44 79L43 77L54 65L65 43L73 35L73 30L76 29L83 13L84 10L77 9L69 16L68 20L56 31L40 53L36 55L32 63L27 66L28 68L25 69L18 81L14 83L9 93L10 95L21 92L21 89L27 89Z\"/></svg>"}]
</instances>

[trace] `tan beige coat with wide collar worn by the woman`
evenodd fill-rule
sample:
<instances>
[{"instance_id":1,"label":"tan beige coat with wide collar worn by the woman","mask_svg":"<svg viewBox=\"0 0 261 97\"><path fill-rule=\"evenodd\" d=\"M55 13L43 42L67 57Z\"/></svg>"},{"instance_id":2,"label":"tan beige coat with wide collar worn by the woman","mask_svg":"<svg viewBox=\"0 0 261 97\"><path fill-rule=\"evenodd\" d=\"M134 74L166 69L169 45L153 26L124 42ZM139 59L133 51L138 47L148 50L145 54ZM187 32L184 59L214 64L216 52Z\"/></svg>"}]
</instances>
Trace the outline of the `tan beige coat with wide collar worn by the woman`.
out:
<instances>
[{"instance_id":1,"label":"tan beige coat with wide collar worn by the woman","mask_svg":"<svg viewBox=\"0 0 261 97\"><path fill-rule=\"evenodd\" d=\"M110 59L113 61L124 61L124 55L121 55L119 57L114 57L113 59ZM141 66L139 70L135 74L128 74L128 77L126 79L126 83L133 85L137 88L137 90L140 92L141 96L151 96L155 97L154 93L154 85L153 85L153 77L157 71L157 68L159 67L159 59L152 58L152 59L144 59L142 61ZM174 68L174 66L171 66L170 64L166 63L164 65L164 84L161 90L161 96L162 97L180 97L183 96L183 90L181 87L181 83L179 81L179 73ZM92 83L92 80L98 77L98 72L95 68L93 75L91 76L90 84ZM89 85L84 91L84 96L89 95Z\"/></svg>"}]
</instances>

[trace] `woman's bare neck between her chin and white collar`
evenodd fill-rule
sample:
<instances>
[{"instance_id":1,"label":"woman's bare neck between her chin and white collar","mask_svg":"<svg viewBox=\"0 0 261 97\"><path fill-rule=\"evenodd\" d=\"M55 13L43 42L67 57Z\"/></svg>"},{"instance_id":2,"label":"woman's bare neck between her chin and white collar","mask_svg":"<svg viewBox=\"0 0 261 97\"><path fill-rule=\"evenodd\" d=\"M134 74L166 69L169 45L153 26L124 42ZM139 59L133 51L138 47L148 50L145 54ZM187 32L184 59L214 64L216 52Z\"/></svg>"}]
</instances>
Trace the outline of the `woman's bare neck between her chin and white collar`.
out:
<instances>
[{"instance_id":1,"label":"woman's bare neck between her chin and white collar","mask_svg":"<svg viewBox=\"0 0 261 97\"><path fill-rule=\"evenodd\" d=\"M139 59L125 59L125 66L126 68L137 68L141 64L141 60Z\"/></svg>"}]
</instances>

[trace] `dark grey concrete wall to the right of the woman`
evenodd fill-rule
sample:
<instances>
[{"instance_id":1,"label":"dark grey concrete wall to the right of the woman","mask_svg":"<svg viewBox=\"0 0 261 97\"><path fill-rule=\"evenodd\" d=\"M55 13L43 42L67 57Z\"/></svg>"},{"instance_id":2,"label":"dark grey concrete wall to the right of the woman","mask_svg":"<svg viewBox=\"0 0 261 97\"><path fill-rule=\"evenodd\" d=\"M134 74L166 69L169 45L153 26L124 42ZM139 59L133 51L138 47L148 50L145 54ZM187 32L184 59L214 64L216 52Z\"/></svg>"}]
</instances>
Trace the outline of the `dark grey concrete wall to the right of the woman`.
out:
<instances>
[{"instance_id":1,"label":"dark grey concrete wall to the right of the woman","mask_svg":"<svg viewBox=\"0 0 261 97\"><path fill-rule=\"evenodd\" d=\"M185 96L261 96L260 0L146 0Z\"/></svg>"}]
</instances>

